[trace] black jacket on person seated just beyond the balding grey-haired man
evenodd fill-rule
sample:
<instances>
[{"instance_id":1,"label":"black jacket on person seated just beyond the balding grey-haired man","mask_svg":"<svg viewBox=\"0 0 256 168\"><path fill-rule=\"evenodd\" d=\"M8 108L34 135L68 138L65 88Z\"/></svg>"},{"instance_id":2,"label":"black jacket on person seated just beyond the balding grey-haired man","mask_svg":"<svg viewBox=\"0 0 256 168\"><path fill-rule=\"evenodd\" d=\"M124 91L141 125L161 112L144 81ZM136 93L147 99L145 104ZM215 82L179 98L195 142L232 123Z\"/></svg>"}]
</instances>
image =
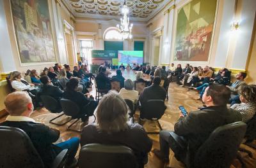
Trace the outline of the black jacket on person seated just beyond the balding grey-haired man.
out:
<instances>
[{"instance_id":1,"label":"black jacket on person seated just beyond the balding grey-haired man","mask_svg":"<svg viewBox=\"0 0 256 168\"><path fill-rule=\"evenodd\" d=\"M63 97L63 91L60 90L59 87L53 86L53 85L43 85L39 92L36 94L36 97L38 97L38 100L40 100L41 95L49 95L56 99L56 101L60 101L61 97Z\"/></svg>"}]
</instances>

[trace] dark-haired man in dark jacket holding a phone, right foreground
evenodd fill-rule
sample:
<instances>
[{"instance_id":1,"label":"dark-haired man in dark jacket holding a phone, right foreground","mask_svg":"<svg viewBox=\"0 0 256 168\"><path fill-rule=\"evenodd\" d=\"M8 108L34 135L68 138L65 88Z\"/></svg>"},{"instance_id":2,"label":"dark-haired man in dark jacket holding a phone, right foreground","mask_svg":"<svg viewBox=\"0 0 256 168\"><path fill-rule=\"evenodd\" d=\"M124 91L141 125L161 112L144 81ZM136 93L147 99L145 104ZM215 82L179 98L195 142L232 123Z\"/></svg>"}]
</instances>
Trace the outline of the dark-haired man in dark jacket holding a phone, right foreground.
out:
<instances>
[{"instance_id":1,"label":"dark-haired man in dark jacket holding a phone, right foreground","mask_svg":"<svg viewBox=\"0 0 256 168\"><path fill-rule=\"evenodd\" d=\"M171 148L177 160L194 167L196 151L204 144L212 131L222 125L241 121L241 114L238 111L227 108L229 97L230 90L223 85L214 84L207 87L202 99L207 107L190 112L185 117L180 113L180 118L174 125L175 134L182 136L188 147L182 149L176 141L172 142L169 147L170 131L162 130L160 150L153 151L156 156L168 162L169 148Z\"/></svg>"}]
</instances>

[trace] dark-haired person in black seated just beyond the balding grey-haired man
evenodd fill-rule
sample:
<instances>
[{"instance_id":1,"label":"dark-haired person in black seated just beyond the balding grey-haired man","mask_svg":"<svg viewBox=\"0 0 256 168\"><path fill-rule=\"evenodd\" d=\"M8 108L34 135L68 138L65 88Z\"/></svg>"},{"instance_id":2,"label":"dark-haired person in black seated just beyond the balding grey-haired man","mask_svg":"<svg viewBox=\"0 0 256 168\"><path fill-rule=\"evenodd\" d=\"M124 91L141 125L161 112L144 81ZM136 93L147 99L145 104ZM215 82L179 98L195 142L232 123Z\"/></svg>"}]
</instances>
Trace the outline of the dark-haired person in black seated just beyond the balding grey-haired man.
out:
<instances>
[{"instance_id":1,"label":"dark-haired person in black seated just beyond the balding grey-haired man","mask_svg":"<svg viewBox=\"0 0 256 168\"><path fill-rule=\"evenodd\" d=\"M41 95L49 95L53 97L56 101L60 101L61 97L63 97L63 91L60 90L59 87L52 85L51 80L48 76L42 76L40 78L40 81L43 83L43 85L41 86L39 92L36 94L38 99Z\"/></svg>"}]
</instances>

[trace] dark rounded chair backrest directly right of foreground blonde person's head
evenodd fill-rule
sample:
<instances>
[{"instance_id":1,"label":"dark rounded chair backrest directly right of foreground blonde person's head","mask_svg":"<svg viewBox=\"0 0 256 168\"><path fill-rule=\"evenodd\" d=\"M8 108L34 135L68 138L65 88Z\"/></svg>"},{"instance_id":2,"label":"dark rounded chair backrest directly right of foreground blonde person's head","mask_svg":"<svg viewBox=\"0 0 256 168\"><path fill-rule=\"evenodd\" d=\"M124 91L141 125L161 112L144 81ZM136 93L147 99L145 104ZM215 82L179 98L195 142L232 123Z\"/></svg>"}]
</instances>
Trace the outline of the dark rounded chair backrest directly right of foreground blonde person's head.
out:
<instances>
[{"instance_id":1,"label":"dark rounded chair backrest directly right of foreground blonde person's head","mask_svg":"<svg viewBox=\"0 0 256 168\"><path fill-rule=\"evenodd\" d=\"M145 102L141 107L143 118L151 120L152 118L159 119L163 116L166 106L161 99L151 99Z\"/></svg>"}]
</instances>

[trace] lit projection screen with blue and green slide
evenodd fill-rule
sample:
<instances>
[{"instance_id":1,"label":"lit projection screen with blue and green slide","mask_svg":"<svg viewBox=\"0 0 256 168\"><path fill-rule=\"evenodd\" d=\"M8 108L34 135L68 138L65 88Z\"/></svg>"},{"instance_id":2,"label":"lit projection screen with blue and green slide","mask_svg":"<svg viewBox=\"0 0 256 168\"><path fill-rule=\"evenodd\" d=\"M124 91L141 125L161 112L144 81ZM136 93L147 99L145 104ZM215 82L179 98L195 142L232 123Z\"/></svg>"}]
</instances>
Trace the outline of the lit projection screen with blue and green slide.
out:
<instances>
[{"instance_id":1,"label":"lit projection screen with blue and green slide","mask_svg":"<svg viewBox=\"0 0 256 168\"><path fill-rule=\"evenodd\" d=\"M143 51L118 51L118 65L143 64Z\"/></svg>"}]
</instances>

